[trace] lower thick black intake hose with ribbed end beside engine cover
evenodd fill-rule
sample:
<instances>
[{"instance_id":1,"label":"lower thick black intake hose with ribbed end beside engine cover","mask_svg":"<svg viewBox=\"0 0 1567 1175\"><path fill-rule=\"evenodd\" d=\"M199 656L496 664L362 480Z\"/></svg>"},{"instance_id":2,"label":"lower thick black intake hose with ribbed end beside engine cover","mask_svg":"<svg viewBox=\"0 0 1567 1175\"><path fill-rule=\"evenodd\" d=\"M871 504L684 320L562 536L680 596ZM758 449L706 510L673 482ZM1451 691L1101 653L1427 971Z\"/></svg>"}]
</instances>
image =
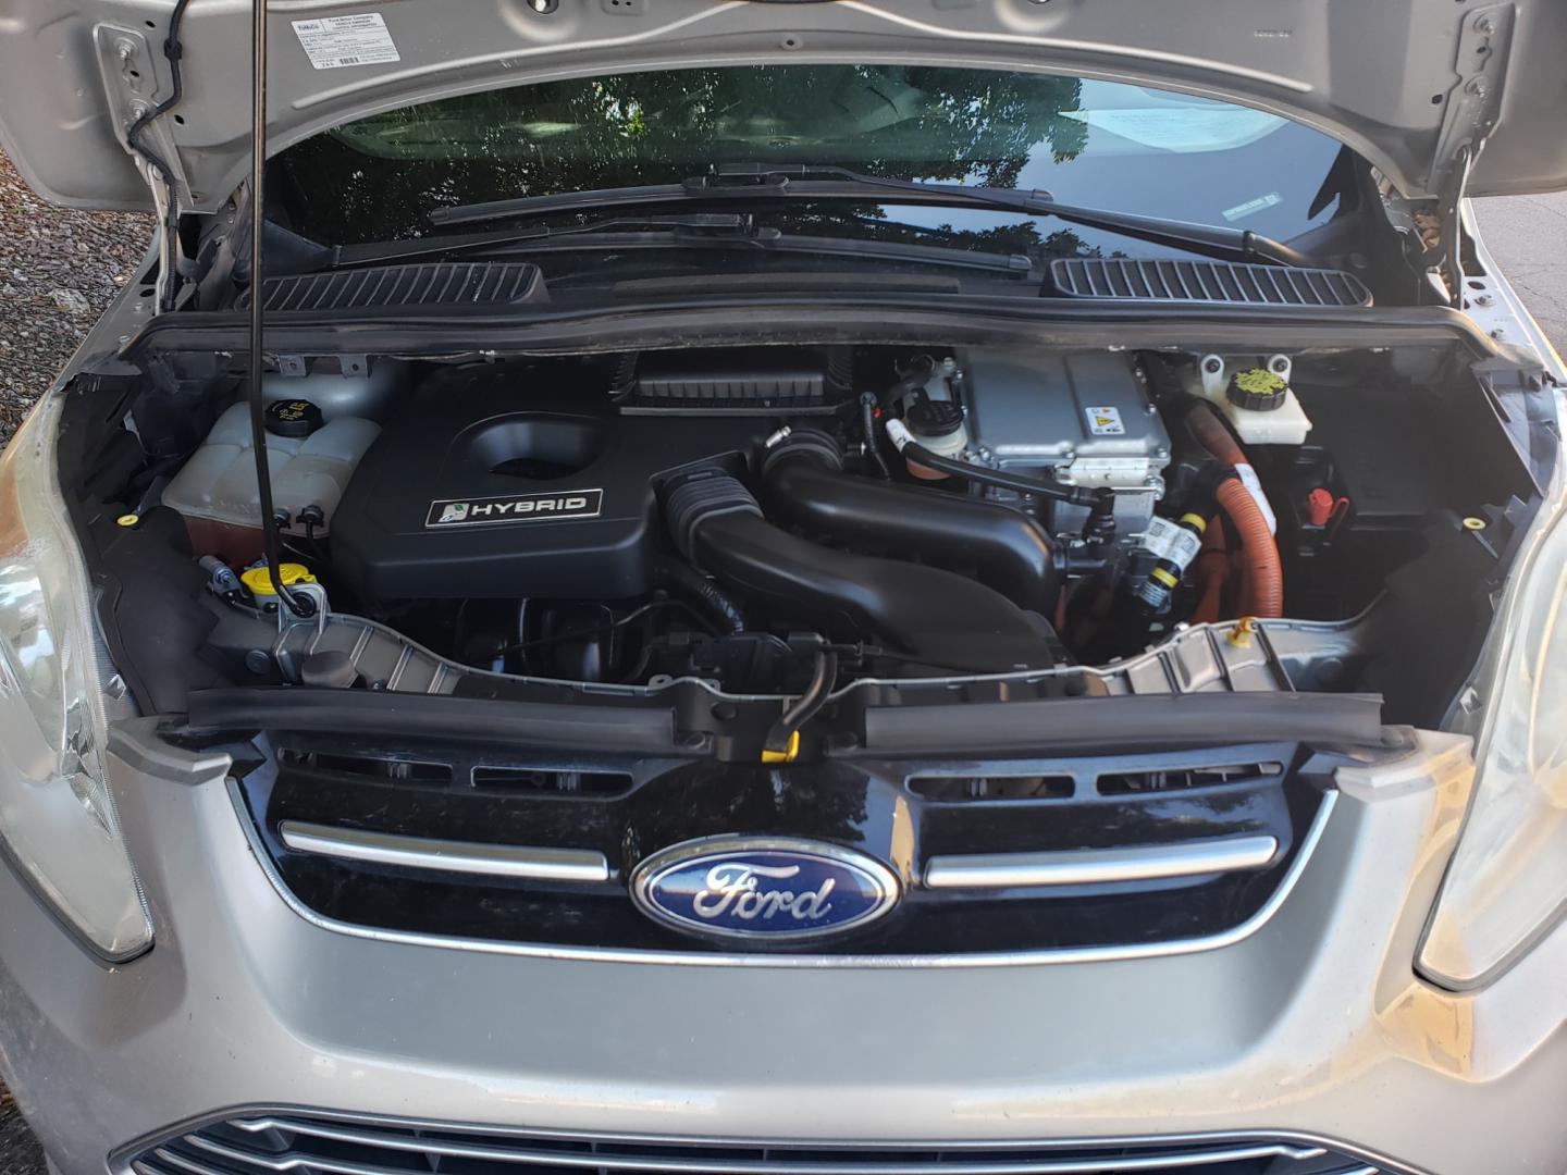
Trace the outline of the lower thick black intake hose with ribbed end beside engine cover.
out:
<instances>
[{"instance_id":1,"label":"lower thick black intake hose with ribbed end beside engine cover","mask_svg":"<svg viewBox=\"0 0 1567 1175\"><path fill-rule=\"evenodd\" d=\"M873 634L932 669L995 674L1048 669L1050 627L962 575L818 547L779 530L735 478L674 486L664 517L680 553L736 589L840 639Z\"/></svg>"}]
</instances>

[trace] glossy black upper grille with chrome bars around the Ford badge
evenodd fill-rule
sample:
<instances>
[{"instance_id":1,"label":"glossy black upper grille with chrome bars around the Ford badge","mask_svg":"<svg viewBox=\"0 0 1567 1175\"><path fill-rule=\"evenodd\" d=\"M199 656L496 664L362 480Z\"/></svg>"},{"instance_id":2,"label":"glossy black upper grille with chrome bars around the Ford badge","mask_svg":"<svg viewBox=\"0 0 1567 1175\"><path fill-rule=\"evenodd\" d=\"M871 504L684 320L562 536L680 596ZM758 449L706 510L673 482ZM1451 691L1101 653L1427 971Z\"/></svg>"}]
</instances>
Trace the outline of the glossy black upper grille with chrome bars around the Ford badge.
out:
<instances>
[{"instance_id":1,"label":"glossy black upper grille with chrome bars around the Ford badge","mask_svg":"<svg viewBox=\"0 0 1567 1175\"><path fill-rule=\"evenodd\" d=\"M652 854L785 837L895 870L903 895L887 916L774 954L862 965L1141 953L1260 924L1327 802L1326 760L1293 743L777 769L273 732L233 755L279 887L338 926L715 962L733 942L638 909L630 877Z\"/></svg>"}]
</instances>

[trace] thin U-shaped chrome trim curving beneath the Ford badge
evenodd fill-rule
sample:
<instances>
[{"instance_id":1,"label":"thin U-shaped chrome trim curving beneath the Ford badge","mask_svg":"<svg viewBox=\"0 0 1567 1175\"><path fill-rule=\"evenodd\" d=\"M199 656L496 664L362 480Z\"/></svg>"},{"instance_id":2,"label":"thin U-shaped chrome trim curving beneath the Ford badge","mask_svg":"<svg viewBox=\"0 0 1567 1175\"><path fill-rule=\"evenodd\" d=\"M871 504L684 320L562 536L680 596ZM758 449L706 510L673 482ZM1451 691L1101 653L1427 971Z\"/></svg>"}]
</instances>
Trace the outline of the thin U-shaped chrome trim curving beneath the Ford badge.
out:
<instances>
[{"instance_id":1,"label":"thin U-shaped chrome trim curving beneath the Ford badge","mask_svg":"<svg viewBox=\"0 0 1567 1175\"><path fill-rule=\"evenodd\" d=\"M365 938L382 943L436 946L447 951L478 951L481 954L506 954L527 959L572 959L638 964L644 967L809 967L816 970L851 967L860 970L890 968L899 971L906 971L910 967L1042 967L1061 964L1097 964L1119 959L1153 959L1194 954L1199 951L1216 951L1224 946L1233 946L1244 938L1250 938L1274 916L1274 913L1279 912L1279 907L1283 906L1285 899L1305 873L1305 866L1312 860L1316 844L1323 840L1327 824L1332 819L1334 808L1338 802L1337 791L1329 791L1323 796L1323 802L1312 819L1312 827L1307 830L1305 837L1301 838L1301 844L1296 849L1294 859L1290 862L1290 868L1280 879L1279 888L1276 888L1268 901L1263 902L1261 909L1258 909L1257 913L1239 926L1233 926L1224 934L1213 934L1205 938L1178 938L1164 943L1127 943L1117 946L1084 946L1055 951L990 951L984 954L722 954L718 951L639 951L632 948L559 946L555 943L511 943L495 938L462 938L456 935L387 931L376 926L360 926L357 923L345 923L337 918L328 918L299 901L299 898L296 898L295 893L284 884L284 879L277 873L277 866L271 859L271 852L262 841L260 830L255 827L255 821L246 805L244 794L240 790L240 783L232 776L227 780L227 816L240 822L240 832L251 844L252 859L257 866L260 866L262 873L266 874L266 879L277 891L277 896L299 918L310 923L317 929L328 931L329 934L342 934L349 938Z\"/></svg>"}]
</instances>

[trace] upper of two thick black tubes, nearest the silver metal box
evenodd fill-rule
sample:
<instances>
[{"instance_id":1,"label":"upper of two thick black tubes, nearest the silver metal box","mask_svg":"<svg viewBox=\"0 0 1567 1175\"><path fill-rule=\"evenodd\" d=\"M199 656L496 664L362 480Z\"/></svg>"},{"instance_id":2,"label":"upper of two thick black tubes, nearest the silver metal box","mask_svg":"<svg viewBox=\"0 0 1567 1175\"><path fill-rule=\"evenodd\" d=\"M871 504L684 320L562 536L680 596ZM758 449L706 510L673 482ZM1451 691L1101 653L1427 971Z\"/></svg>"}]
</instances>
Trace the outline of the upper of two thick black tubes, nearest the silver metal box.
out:
<instances>
[{"instance_id":1,"label":"upper of two thick black tubes, nearest the silver metal box","mask_svg":"<svg viewBox=\"0 0 1567 1175\"><path fill-rule=\"evenodd\" d=\"M975 567L1012 603L1051 616L1061 594L1055 545L1022 511L946 490L840 472L815 446L769 456L769 514L857 550Z\"/></svg>"}]
</instances>

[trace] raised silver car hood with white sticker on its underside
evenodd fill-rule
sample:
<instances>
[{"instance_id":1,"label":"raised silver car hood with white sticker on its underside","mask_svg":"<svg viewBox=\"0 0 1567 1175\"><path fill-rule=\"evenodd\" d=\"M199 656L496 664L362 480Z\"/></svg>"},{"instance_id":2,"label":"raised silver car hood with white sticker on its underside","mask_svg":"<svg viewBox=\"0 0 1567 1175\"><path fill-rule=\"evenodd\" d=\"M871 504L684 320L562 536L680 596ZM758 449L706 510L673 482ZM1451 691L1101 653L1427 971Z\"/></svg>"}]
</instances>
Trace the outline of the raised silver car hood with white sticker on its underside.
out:
<instances>
[{"instance_id":1,"label":"raised silver car hood with white sticker on its underside","mask_svg":"<svg viewBox=\"0 0 1567 1175\"><path fill-rule=\"evenodd\" d=\"M0 146L42 196L152 205L125 127L174 92L174 9L0 0ZM249 20L244 0L196 0L183 16L183 94L144 132L177 172L182 208L216 212L244 177ZM274 0L271 25L271 150L523 81L888 60L1051 69L1258 107L1337 136L1412 197L1456 190L1467 160L1468 194L1567 186L1559 0Z\"/></svg>"}]
</instances>

